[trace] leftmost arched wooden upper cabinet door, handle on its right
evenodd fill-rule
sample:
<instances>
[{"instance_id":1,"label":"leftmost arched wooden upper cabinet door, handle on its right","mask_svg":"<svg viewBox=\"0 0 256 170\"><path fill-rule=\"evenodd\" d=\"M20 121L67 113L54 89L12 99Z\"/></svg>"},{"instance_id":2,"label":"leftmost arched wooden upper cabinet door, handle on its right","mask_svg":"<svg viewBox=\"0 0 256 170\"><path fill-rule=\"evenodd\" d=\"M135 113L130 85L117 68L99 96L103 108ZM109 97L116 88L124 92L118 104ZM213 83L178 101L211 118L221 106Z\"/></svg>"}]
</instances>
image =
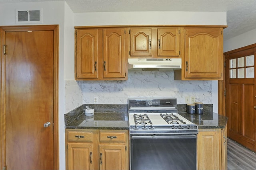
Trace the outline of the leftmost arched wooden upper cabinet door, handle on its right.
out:
<instances>
[{"instance_id":1,"label":"leftmost arched wooden upper cabinet door, handle on its right","mask_svg":"<svg viewBox=\"0 0 256 170\"><path fill-rule=\"evenodd\" d=\"M98 78L98 29L76 31L75 74L79 78Z\"/></svg>"}]
</instances>

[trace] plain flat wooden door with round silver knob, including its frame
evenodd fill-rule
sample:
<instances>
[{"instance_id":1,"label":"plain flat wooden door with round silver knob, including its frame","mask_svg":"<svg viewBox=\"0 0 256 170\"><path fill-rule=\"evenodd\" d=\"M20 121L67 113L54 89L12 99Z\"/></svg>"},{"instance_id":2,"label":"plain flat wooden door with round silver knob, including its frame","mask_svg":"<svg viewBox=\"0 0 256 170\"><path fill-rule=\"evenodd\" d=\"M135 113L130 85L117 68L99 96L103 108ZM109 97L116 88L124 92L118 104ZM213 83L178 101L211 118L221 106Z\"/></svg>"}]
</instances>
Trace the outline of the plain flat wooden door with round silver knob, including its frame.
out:
<instances>
[{"instance_id":1,"label":"plain flat wooden door with round silver knob, including its frame","mask_svg":"<svg viewBox=\"0 0 256 170\"><path fill-rule=\"evenodd\" d=\"M7 170L58 169L56 25L34 29L2 31L1 163Z\"/></svg>"}]
</instances>

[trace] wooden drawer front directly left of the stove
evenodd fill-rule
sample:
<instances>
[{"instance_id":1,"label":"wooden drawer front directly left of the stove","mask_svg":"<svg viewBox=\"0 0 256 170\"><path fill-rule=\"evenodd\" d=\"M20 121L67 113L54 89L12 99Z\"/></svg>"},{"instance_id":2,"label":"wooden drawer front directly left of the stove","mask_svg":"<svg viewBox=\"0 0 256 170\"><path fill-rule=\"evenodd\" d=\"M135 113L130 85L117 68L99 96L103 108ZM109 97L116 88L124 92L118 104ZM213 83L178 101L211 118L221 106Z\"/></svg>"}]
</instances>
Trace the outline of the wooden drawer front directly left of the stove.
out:
<instances>
[{"instance_id":1,"label":"wooden drawer front directly left of the stove","mask_svg":"<svg viewBox=\"0 0 256 170\"><path fill-rule=\"evenodd\" d=\"M126 131L100 131L100 142L126 142Z\"/></svg>"}]
</instances>

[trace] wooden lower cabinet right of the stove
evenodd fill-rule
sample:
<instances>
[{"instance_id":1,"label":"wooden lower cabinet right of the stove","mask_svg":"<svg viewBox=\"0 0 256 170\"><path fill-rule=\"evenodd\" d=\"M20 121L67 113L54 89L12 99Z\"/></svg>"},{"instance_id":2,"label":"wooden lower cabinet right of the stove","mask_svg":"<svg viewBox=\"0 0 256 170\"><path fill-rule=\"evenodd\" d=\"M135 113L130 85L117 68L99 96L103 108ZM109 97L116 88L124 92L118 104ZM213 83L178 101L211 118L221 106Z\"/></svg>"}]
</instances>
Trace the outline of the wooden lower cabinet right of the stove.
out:
<instances>
[{"instance_id":1,"label":"wooden lower cabinet right of the stove","mask_svg":"<svg viewBox=\"0 0 256 170\"><path fill-rule=\"evenodd\" d=\"M224 129L199 129L198 170L227 170L227 136Z\"/></svg>"}]
</instances>

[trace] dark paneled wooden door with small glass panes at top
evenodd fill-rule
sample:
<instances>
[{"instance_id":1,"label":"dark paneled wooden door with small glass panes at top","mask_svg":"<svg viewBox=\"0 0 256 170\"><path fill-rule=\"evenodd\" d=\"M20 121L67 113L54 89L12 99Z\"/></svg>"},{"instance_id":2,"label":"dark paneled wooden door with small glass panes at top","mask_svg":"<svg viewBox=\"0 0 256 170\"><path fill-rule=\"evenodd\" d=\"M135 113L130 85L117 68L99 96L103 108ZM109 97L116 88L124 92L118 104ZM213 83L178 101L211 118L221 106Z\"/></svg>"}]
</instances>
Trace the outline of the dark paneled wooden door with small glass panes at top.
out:
<instances>
[{"instance_id":1,"label":"dark paneled wooden door with small glass panes at top","mask_svg":"<svg viewBox=\"0 0 256 170\"><path fill-rule=\"evenodd\" d=\"M225 55L228 137L256 151L256 47Z\"/></svg>"}]
</instances>

